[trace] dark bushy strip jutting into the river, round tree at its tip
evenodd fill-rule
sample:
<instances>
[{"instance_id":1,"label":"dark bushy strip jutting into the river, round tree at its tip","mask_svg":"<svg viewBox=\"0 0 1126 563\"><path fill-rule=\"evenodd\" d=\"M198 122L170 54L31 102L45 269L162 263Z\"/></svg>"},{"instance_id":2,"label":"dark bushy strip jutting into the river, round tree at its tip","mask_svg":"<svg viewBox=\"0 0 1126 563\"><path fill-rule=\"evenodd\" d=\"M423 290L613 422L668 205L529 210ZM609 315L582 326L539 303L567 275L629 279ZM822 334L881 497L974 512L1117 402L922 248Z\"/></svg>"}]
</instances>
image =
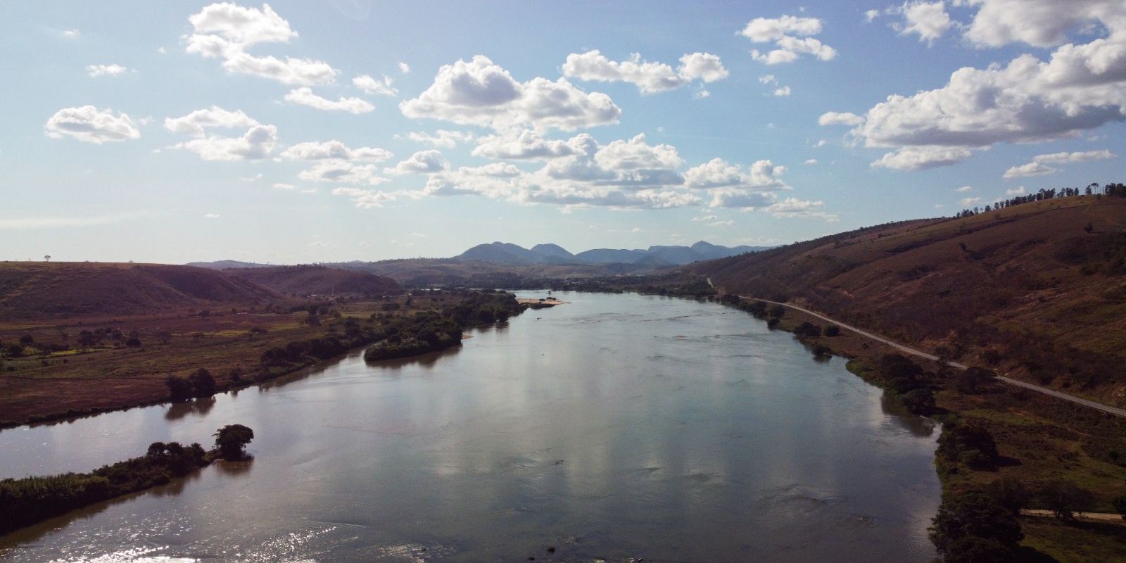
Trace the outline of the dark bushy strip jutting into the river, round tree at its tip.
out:
<instances>
[{"instance_id":1,"label":"dark bushy strip jutting into the river, round tree at its tip","mask_svg":"<svg viewBox=\"0 0 1126 563\"><path fill-rule=\"evenodd\" d=\"M90 473L29 476L0 480L0 534L64 515L77 508L101 502L153 486L168 484L212 463L217 454L225 458L244 456L243 447L254 437L253 430L231 425L216 434L213 452L199 444L154 441L141 457L93 470Z\"/></svg>"}]
</instances>

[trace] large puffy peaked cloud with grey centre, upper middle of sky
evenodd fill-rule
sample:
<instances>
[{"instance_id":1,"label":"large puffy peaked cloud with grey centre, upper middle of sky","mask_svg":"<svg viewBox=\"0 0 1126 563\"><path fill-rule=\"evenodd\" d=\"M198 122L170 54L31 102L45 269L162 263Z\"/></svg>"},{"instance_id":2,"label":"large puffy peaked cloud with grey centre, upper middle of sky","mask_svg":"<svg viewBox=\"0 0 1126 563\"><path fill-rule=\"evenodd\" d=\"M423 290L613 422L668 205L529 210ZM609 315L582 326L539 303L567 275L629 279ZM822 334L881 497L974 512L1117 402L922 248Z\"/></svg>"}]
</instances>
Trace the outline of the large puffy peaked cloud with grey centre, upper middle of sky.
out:
<instances>
[{"instance_id":1,"label":"large puffy peaked cloud with grey centre, upper middle of sky","mask_svg":"<svg viewBox=\"0 0 1126 563\"><path fill-rule=\"evenodd\" d=\"M418 98L400 104L411 118L443 119L497 129L516 126L574 131L617 123L622 116L609 96L587 93L566 79L518 82L485 56L458 60L438 70Z\"/></svg>"}]
</instances>

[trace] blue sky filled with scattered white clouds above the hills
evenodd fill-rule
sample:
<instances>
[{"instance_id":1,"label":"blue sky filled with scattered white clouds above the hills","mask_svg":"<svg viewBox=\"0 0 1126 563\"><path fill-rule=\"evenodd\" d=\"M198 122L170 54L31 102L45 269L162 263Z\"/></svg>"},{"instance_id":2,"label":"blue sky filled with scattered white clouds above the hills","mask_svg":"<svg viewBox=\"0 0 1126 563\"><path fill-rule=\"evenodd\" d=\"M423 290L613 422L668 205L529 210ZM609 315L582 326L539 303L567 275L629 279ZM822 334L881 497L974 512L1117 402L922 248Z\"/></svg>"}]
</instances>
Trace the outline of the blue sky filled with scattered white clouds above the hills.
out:
<instances>
[{"instance_id":1,"label":"blue sky filled with scattered white clouds above the hills","mask_svg":"<svg viewBox=\"0 0 1126 563\"><path fill-rule=\"evenodd\" d=\"M1123 181L1126 1L0 7L0 259L772 245Z\"/></svg>"}]
</instances>

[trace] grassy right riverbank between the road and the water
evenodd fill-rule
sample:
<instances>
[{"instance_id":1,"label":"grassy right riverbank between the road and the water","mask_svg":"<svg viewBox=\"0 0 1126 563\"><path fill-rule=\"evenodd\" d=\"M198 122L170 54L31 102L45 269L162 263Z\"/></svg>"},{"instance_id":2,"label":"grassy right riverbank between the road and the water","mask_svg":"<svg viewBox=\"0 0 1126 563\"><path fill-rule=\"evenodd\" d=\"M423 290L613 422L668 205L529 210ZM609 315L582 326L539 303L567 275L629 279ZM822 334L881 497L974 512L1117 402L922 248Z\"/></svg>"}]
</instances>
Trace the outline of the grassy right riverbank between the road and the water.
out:
<instances>
[{"instance_id":1,"label":"grassy right riverbank between the road and the water","mask_svg":"<svg viewBox=\"0 0 1126 563\"><path fill-rule=\"evenodd\" d=\"M807 331L798 337L811 350L829 350L849 358L849 369L866 381L895 394L894 384L882 376L881 360L901 350L861 334L840 330L825 336L831 323L797 310L775 306L768 315L775 328L806 332L816 327L819 336ZM780 314L774 314L780 313ZM835 332L835 331L828 331ZM1094 512L1112 512L1111 501L1126 493L1126 423L1119 418L1069 403L1028 390L1002 384L986 385L975 393L958 391L953 370L938 363L922 360L936 382L931 415L949 423L978 425L992 435L1001 463L973 468L964 463L936 457L944 499L995 486L1002 480L1021 483L1027 489L1027 504L1045 509L1036 491L1054 482L1072 483L1090 494L1082 507ZM1043 522L1039 517L1021 517L1025 531L1021 545L1037 549L1061 563L1116 561L1126 556L1123 526L1116 522ZM1063 540L1066 534L1065 540Z\"/></svg>"}]
</instances>

